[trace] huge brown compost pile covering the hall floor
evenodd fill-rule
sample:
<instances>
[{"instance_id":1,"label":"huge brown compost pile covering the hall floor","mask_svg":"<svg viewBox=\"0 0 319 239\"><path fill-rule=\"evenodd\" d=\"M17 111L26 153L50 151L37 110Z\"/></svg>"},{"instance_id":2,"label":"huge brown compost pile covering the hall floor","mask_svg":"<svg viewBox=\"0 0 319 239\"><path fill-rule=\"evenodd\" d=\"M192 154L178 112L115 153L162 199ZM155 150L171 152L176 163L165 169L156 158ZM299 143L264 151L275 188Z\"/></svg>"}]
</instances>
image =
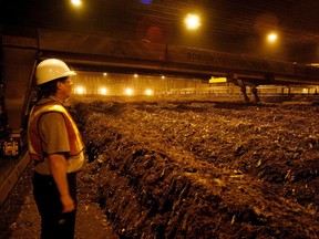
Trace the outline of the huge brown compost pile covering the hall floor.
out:
<instances>
[{"instance_id":1,"label":"huge brown compost pile covering the hall floor","mask_svg":"<svg viewBox=\"0 0 319 239\"><path fill-rule=\"evenodd\" d=\"M318 238L316 101L83 97L72 113L79 191L121 238Z\"/></svg>"}]
</instances>

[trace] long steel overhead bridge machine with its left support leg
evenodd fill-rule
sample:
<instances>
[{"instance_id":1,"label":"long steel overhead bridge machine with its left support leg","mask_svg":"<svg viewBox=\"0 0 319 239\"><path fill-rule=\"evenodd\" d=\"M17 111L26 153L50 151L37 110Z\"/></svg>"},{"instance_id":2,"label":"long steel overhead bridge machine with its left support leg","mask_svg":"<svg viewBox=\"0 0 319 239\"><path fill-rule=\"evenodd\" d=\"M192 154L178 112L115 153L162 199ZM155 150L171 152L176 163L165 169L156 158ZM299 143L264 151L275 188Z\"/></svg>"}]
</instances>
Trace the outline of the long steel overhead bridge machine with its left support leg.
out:
<instances>
[{"instance_id":1,"label":"long steel overhead bridge machine with its left support leg","mask_svg":"<svg viewBox=\"0 0 319 239\"><path fill-rule=\"evenodd\" d=\"M19 156L39 61L58 58L73 70L226 77L243 89L265 84L318 84L319 67L204 49L110 39L52 29L1 31L2 155ZM256 94L256 97L258 95ZM258 98L256 98L258 101ZM4 136L4 135L2 135Z\"/></svg>"}]
</instances>

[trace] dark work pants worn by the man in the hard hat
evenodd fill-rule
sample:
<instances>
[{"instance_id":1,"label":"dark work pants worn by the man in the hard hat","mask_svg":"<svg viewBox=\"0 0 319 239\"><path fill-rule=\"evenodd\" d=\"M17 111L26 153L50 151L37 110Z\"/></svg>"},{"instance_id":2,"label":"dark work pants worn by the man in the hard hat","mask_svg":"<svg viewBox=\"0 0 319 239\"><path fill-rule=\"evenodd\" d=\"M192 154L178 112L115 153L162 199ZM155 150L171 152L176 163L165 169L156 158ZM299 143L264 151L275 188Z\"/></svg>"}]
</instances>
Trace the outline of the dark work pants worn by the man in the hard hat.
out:
<instances>
[{"instance_id":1,"label":"dark work pants worn by the man in the hard hat","mask_svg":"<svg viewBox=\"0 0 319 239\"><path fill-rule=\"evenodd\" d=\"M68 181L76 205L76 173L68 174ZM33 196L41 216L41 239L73 239L76 209L62 214L60 194L53 177L34 173Z\"/></svg>"}]
</instances>

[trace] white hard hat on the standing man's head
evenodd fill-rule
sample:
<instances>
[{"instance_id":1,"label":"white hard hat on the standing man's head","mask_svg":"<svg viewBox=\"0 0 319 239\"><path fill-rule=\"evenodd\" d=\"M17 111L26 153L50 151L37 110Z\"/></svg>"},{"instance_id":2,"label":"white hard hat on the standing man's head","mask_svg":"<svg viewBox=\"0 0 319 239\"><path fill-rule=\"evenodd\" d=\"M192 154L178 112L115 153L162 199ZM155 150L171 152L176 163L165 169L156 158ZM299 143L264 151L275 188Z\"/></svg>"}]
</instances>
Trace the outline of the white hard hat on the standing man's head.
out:
<instances>
[{"instance_id":1,"label":"white hard hat on the standing man's head","mask_svg":"<svg viewBox=\"0 0 319 239\"><path fill-rule=\"evenodd\" d=\"M58 59L47 59L40 62L37 66L37 85L41 85L60 77L73 76L75 74L75 72L69 69L65 62Z\"/></svg>"}]
</instances>

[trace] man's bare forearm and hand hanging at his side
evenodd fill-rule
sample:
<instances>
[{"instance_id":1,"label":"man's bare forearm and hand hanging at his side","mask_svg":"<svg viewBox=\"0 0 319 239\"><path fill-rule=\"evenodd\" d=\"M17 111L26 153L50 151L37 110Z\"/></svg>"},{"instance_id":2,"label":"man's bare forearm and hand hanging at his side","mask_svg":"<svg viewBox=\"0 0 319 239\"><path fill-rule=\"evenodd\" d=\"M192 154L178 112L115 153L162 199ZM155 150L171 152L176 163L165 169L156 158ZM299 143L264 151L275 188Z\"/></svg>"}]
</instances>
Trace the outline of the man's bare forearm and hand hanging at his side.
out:
<instances>
[{"instance_id":1,"label":"man's bare forearm and hand hanging at his side","mask_svg":"<svg viewBox=\"0 0 319 239\"><path fill-rule=\"evenodd\" d=\"M62 212L73 211L75 209L75 205L69 191L65 157L63 154L50 154L48 158L51 174L60 193L60 200L63 206Z\"/></svg>"}]
</instances>

